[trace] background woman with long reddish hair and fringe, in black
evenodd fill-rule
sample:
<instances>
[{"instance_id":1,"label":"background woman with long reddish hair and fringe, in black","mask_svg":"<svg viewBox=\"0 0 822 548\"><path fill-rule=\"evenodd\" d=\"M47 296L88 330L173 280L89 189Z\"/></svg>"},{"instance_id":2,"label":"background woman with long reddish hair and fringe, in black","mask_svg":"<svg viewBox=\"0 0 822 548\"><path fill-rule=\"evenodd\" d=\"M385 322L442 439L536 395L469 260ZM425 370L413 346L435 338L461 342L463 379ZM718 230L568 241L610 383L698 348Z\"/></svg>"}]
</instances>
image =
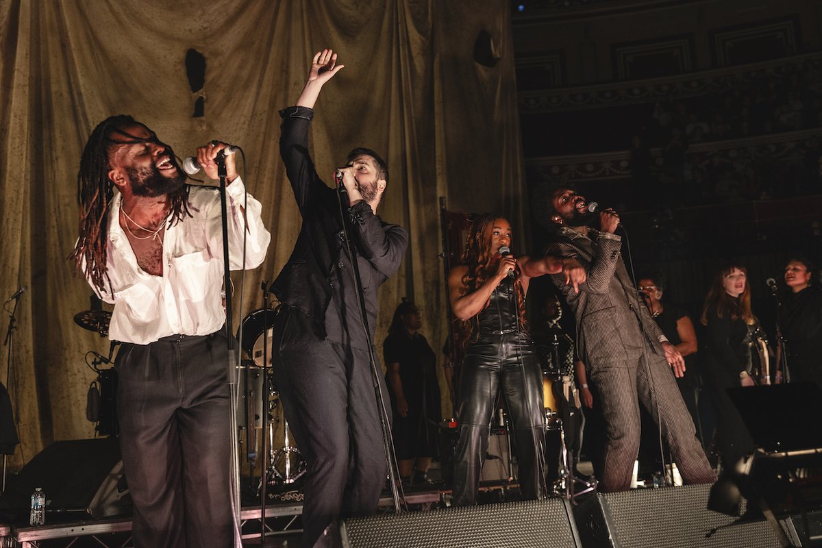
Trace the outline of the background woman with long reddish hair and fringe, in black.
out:
<instances>
[{"instance_id":1,"label":"background woman with long reddish hair and fringe, in black","mask_svg":"<svg viewBox=\"0 0 822 548\"><path fill-rule=\"evenodd\" d=\"M725 470L755 449L745 423L728 397L733 386L753 386L755 371L750 356L750 334L756 318L750 310L746 268L728 263L718 270L705 297L700 322L705 342L705 385L717 415L716 439Z\"/></svg>"}]
</instances>

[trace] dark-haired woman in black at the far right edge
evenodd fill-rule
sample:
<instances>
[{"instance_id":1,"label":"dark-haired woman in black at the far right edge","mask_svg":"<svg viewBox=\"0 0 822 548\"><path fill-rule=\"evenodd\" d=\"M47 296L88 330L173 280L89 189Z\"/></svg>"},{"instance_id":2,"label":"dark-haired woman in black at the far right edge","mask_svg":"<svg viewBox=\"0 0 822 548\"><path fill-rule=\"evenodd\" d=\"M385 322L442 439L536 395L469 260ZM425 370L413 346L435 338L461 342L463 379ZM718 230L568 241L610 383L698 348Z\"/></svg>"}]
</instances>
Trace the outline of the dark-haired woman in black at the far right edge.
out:
<instances>
[{"instance_id":1,"label":"dark-haired woman in black at the far right edge","mask_svg":"<svg viewBox=\"0 0 822 548\"><path fill-rule=\"evenodd\" d=\"M810 380L822 387L822 291L809 260L795 258L785 267L790 288L779 307L791 382Z\"/></svg>"}]
</instances>

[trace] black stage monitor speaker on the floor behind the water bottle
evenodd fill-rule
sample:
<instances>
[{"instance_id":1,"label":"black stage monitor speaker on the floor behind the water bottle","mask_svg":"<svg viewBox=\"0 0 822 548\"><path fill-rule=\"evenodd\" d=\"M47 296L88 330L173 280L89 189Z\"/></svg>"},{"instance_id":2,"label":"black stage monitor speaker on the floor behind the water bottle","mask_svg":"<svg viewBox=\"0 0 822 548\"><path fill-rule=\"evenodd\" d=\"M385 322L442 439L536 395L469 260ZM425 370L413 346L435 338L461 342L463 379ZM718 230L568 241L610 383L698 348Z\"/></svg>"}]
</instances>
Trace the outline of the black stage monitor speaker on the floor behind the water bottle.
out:
<instances>
[{"instance_id":1,"label":"black stage monitor speaker on the floor behind the water bottle","mask_svg":"<svg viewBox=\"0 0 822 548\"><path fill-rule=\"evenodd\" d=\"M31 493L42 487L48 501L46 523L62 518L106 518L131 513L117 438L55 441L15 477L0 495L0 513L27 517Z\"/></svg>"}]
</instances>

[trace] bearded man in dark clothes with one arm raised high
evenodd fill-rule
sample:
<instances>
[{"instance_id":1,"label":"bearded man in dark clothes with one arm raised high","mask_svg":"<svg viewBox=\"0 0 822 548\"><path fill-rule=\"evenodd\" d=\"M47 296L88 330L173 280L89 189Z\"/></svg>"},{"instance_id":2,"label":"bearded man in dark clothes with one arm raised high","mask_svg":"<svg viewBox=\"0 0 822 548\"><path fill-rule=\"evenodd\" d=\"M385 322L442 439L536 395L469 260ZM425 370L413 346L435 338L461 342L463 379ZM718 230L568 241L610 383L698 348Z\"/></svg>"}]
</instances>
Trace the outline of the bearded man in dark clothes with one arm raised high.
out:
<instances>
[{"instance_id":1,"label":"bearded man in dark clothes with one arm raised high","mask_svg":"<svg viewBox=\"0 0 822 548\"><path fill-rule=\"evenodd\" d=\"M331 546L336 518L376 511L386 481L370 363L376 290L399 269L409 240L404 228L376 216L388 169L375 152L351 151L335 176L344 193L322 182L308 154L317 96L343 67L336 59L329 49L316 53L296 106L280 111L279 150L302 227L272 287L281 303L273 373L285 418L307 462L302 546ZM367 332L355 269L362 279ZM376 376L387 401L382 375Z\"/></svg>"}]
</instances>

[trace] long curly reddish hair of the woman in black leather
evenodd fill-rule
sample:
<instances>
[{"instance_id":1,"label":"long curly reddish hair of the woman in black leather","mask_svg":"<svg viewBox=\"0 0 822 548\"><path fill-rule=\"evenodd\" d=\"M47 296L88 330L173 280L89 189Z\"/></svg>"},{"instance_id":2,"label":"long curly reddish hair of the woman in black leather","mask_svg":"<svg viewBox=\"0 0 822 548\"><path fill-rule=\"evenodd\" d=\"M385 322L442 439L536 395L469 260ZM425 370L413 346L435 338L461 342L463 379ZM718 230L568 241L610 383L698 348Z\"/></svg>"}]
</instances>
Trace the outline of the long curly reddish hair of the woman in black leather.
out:
<instances>
[{"instance_id":1,"label":"long curly reddish hair of the woman in black leather","mask_svg":"<svg viewBox=\"0 0 822 548\"><path fill-rule=\"evenodd\" d=\"M471 228L465 240L465 251L460 257L460 265L468 267L462 278L462 288L460 295L468 295L482 287L487 279L496 272L496 249L491 249L492 228L496 219L505 219L502 215L495 213L484 213L474 215L471 218ZM522 290L520 280L520 267L514 273L514 291L516 294L517 309L520 312L520 329L528 330L528 322L525 320L525 293ZM490 299L483 306L483 310L488 306ZM474 324L478 323L478 315L474 315L469 320L456 320L459 322L458 333L459 342L462 348L469 342L473 335ZM477 334L478 335L478 334ZM476 340L476 338L474 338Z\"/></svg>"}]
</instances>

